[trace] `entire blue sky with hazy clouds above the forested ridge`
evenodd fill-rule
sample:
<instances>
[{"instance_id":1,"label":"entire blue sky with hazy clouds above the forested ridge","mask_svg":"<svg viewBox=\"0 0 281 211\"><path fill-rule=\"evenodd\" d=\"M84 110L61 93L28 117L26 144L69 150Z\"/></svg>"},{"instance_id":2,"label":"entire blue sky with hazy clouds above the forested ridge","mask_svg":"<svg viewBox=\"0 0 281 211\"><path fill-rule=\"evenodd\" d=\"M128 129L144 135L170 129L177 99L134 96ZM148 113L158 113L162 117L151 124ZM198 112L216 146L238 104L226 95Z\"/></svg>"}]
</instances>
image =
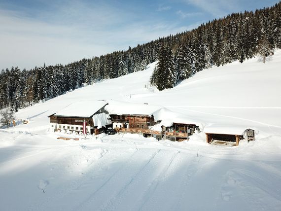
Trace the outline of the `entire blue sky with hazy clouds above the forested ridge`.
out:
<instances>
[{"instance_id":1,"label":"entire blue sky with hazy clouds above the forested ridge","mask_svg":"<svg viewBox=\"0 0 281 211\"><path fill-rule=\"evenodd\" d=\"M0 0L0 70L67 64L279 0Z\"/></svg>"}]
</instances>

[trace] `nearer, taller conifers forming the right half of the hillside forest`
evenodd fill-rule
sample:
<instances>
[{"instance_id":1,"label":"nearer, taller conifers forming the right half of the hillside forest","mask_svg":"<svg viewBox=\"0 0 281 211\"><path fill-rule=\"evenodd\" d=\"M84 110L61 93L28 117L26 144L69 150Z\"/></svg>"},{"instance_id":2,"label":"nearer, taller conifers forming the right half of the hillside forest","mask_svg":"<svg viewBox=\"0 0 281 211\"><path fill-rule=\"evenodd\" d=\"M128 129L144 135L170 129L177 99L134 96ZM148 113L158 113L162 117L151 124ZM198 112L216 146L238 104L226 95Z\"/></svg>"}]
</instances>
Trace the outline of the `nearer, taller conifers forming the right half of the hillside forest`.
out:
<instances>
[{"instance_id":1,"label":"nearer, taller conifers forming the right half of the hillside forest","mask_svg":"<svg viewBox=\"0 0 281 211\"><path fill-rule=\"evenodd\" d=\"M192 74L281 48L281 3L255 12L234 13L187 32L175 46L161 43L158 65L150 82L172 88Z\"/></svg>"}]
</instances>

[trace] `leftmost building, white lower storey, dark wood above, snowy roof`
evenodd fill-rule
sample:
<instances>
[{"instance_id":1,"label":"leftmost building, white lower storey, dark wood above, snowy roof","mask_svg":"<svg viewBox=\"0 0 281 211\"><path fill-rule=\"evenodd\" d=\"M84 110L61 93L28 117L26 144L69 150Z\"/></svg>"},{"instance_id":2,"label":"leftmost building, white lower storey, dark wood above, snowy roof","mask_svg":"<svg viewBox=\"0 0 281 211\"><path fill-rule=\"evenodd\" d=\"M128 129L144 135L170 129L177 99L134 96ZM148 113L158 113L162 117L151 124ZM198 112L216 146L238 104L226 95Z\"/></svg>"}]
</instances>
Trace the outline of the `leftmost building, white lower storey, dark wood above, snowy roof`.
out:
<instances>
[{"instance_id":1,"label":"leftmost building, white lower storey, dark wood above, snowy roof","mask_svg":"<svg viewBox=\"0 0 281 211\"><path fill-rule=\"evenodd\" d=\"M105 101L81 101L70 104L50 116L50 130L84 132L98 134L99 130L111 124L108 112L105 111Z\"/></svg>"}]
</instances>

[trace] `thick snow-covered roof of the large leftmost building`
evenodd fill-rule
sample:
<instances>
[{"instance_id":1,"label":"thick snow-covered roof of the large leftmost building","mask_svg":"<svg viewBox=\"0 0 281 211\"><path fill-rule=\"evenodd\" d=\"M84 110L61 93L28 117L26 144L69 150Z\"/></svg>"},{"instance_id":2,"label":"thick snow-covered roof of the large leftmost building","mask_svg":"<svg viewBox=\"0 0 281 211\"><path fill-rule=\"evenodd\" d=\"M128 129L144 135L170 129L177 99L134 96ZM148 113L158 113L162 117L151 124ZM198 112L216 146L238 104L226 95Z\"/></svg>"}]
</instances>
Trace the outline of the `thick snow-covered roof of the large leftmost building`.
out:
<instances>
[{"instance_id":1,"label":"thick snow-covered roof of the large leftmost building","mask_svg":"<svg viewBox=\"0 0 281 211\"><path fill-rule=\"evenodd\" d=\"M106 104L106 101L75 102L58 111L54 116L91 117Z\"/></svg>"}]
</instances>

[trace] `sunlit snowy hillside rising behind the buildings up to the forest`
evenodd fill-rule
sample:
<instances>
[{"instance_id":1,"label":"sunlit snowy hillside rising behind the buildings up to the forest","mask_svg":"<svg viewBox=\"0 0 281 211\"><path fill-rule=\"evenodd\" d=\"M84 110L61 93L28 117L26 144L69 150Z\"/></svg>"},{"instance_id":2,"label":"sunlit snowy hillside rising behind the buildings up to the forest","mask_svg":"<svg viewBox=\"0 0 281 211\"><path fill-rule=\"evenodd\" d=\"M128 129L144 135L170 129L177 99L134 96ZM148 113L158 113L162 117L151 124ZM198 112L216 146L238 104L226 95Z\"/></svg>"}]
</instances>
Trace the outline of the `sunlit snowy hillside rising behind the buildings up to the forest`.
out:
<instances>
[{"instance_id":1,"label":"sunlit snowy hillside rising behind the buildings up to the forest","mask_svg":"<svg viewBox=\"0 0 281 211\"><path fill-rule=\"evenodd\" d=\"M223 124L255 127L281 134L281 51L266 64L256 58L233 62L196 73L173 89L157 91L149 84L155 63L147 70L83 87L65 95L20 110L18 118L46 125L46 116L87 100L119 100L165 106L184 118L203 125Z\"/></svg>"}]
</instances>

